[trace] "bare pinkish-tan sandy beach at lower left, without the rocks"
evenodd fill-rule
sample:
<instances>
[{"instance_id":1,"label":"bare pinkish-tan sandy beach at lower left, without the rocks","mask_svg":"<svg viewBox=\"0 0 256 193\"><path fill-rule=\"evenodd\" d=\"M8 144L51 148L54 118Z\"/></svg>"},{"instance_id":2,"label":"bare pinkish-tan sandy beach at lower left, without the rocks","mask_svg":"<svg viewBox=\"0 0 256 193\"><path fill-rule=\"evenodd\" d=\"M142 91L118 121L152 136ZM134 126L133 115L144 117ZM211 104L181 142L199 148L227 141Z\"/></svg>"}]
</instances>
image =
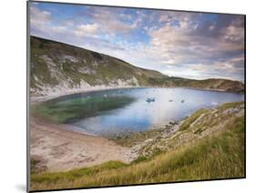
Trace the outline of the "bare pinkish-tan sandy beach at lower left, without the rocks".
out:
<instances>
[{"instance_id":1,"label":"bare pinkish-tan sandy beach at lower left, without the rocks","mask_svg":"<svg viewBox=\"0 0 256 193\"><path fill-rule=\"evenodd\" d=\"M44 160L47 170L65 171L104 163L131 161L131 148L118 146L104 137L72 132L67 125L30 119L30 157Z\"/></svg>"}]
</instances>

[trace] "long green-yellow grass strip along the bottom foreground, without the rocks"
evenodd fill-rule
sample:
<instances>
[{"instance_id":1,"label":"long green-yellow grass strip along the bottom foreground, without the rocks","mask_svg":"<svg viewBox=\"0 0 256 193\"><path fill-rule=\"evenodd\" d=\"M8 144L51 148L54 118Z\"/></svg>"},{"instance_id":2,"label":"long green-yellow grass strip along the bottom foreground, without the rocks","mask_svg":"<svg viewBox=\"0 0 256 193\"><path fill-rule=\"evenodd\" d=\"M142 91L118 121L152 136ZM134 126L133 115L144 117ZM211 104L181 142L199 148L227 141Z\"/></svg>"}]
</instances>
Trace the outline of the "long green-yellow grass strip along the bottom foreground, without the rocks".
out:
<instances>
[{"instance_id":1,"label":"long green-yellow grass strip along the bottom foreground, without the rocks","mask_svg":"<svg viewBox=\"0 0 256 193\"><path fill-rule=\"evenodd\" d=\"M244 117L234 118L220 133L196 143L125 165L96 167L31 176L31 189L87 188L244 177Z\"/></svg>"}]
</instances>

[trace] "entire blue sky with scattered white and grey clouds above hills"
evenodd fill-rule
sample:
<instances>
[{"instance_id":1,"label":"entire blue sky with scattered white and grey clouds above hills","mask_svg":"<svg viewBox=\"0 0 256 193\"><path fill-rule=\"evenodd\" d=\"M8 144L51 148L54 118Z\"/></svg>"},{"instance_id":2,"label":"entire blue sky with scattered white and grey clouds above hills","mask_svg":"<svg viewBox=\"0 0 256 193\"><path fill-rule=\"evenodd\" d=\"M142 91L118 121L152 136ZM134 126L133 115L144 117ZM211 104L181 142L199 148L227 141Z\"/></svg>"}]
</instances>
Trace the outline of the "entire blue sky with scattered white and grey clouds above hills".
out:
<instances>
[{"instance_id":1,"label":"entire blue sky with scattered white and grey clouds above hills","mask_svg":"<svg viewBox=\"0 0 256 193\"><path fill-rule=\"evenodd\" d=\"M93 5L29 3L30 34L168 76L244 82L244 18Z\"/></svg>"}]
</instances>

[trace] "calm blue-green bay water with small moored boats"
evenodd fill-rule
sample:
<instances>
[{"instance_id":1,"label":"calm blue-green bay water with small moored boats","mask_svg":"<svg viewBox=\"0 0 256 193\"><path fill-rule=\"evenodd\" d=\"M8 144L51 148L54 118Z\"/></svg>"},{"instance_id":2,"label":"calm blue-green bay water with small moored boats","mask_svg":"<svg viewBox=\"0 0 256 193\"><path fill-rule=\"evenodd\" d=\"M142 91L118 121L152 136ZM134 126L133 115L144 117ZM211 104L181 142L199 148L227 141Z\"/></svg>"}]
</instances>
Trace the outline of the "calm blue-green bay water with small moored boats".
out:
<instances>
[{"instance_id":1,"label":"calm blue-green bay water with small moored boats","mask_svg":"<svg viewBox=\"0 0 256 193\"><path fill-rule=\"evenodd\" d=\"M155 101L147 102L148 97ZM186 88L122 88L61 96L47 101L42 112L88 133L111 136L162 127L201 107L243 101L243 97Z\"/></svg>"}]
</instances>

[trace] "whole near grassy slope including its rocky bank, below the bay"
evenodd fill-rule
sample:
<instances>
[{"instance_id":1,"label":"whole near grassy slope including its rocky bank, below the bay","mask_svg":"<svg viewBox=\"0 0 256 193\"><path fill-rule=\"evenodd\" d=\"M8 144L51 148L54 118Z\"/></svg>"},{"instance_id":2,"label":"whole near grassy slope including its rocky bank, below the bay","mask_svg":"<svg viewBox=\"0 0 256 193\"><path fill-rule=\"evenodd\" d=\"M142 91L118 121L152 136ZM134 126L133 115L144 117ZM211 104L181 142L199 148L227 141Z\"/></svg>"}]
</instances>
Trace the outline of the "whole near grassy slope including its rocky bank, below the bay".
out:
<instances>
[{"instance_id":1,"label":"whole near grassy slope including its rocky bank, below the bay","mask_svg":"<svg viewBox=\"0 0 256 193\"><path fill-rule=\"evenodd\" d=\"M214 118L213 118L214 117ZM149 141L140 157L130 164L110 161L67 172L34 173L31 189L88 188L156 182L244 178L244 104L229 103L200 109L169 135L159 129L142 140ZM148 134L148 133L147 133ZM129 146L135 136L116 140ZM120 142L121 141L121 142ZM127 143L126 143L127 142Z\"/></svg>"}]
</instances>

